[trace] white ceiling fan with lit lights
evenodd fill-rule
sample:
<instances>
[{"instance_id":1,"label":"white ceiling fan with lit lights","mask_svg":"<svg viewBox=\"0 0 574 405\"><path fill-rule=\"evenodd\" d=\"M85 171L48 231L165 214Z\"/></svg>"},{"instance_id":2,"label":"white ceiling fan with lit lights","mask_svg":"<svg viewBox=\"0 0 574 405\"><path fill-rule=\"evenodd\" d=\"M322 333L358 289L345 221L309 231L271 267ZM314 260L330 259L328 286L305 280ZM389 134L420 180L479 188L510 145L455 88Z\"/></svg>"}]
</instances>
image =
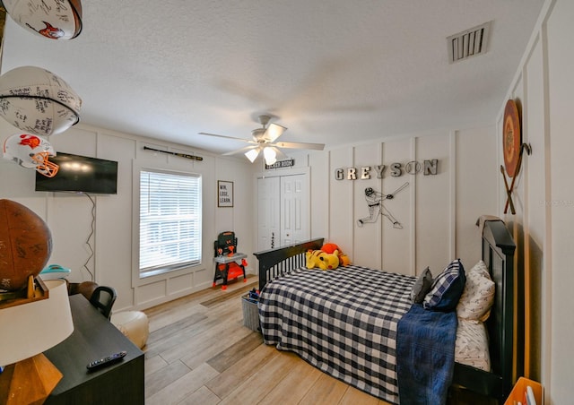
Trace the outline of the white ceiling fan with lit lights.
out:
<instances>
[{"instance_id":1,"label":"white ceiling fan with lit lights","mask_svg":"<svg viewBox=\"0 0 574 405\"><path fill-rule=\"evenodd\" d=\"M280 150L283 149L310 149L315 151L323 151L325 144L323 143L308 143L308 142L275 142L286 130L282 125L269 124L271 116L259 116L261 128L256 128L251 131L252 140L235 138L233 136L225 136L218 134L199 133L201 135L217 136L219 138L232 139L233 141L241 141L249 143L248 146L240 148L236 151L229 151L223 153L223 156L235 155L237 153L244 153L245 156L253 163L261 151L265 158L267 165L273 165L277 159L287 159L287 156Z\"/></svg>"}]
</instances>

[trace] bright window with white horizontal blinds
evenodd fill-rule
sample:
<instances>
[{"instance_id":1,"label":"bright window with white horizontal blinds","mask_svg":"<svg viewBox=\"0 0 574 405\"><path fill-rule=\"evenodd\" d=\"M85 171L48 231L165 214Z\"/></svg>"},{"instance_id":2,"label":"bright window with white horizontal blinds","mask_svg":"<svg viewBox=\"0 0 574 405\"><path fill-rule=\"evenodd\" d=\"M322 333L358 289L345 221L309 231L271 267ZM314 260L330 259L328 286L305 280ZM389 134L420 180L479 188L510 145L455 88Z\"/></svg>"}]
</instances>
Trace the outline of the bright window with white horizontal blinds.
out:
<instances>
[{"instance_id":1,"label":"bright window with white horizontal blinds","mask_svg":"<svg viewBox=\"0 0 574 405\"><path fill-rule=\"evenodd\" d=\"M201 176L140 171L140 278L201 263Z\"/></svg>"}]
</instances>

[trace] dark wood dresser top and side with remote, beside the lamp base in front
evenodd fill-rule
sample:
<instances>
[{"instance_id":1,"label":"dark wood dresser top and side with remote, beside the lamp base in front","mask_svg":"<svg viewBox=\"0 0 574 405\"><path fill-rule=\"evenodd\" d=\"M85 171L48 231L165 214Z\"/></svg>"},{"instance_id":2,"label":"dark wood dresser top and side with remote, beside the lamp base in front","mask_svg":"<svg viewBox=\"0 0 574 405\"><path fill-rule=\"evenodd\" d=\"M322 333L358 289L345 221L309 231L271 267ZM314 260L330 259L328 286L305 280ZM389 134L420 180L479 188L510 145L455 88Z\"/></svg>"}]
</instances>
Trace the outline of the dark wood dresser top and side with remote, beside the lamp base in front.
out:
<instances>
[{"instance_id":1,"label":"dark wood dresser top and side with remote, beside the lamp base in front","mask_svg":"<svg viewBox=\"0 0 574 405\"><path fill-rule=\"evenodd\" d=\"M44 352L64 377L46 402L52 404L143 404L143 351L91 306L82 294L70 297L74 332ZM88 372L86 365L118 351L120 361Z\"/></svg>"}]
</instances>

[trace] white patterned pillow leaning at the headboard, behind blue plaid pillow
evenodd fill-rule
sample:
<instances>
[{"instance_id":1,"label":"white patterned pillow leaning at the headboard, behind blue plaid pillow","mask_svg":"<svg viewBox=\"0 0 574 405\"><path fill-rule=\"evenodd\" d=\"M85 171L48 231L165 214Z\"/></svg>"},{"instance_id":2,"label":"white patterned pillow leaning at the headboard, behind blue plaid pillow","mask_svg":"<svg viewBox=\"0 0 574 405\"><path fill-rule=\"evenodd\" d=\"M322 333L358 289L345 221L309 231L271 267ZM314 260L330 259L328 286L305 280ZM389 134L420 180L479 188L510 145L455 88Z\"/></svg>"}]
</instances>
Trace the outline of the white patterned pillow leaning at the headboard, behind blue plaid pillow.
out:
<instances>
[{"instance_id":1,"label":"white patterned pillow leaning at the headboard, behind blue plaid pillow","mask_svg":"<svg viewBox=\"0 0 574 405\"><path fill-rule=\"evenodd\" d=\"M469 321L486 321L494 303L494 281L481 260L466 273L463 294L458 300L457 316Z\"/></svg>"}]
</instances>

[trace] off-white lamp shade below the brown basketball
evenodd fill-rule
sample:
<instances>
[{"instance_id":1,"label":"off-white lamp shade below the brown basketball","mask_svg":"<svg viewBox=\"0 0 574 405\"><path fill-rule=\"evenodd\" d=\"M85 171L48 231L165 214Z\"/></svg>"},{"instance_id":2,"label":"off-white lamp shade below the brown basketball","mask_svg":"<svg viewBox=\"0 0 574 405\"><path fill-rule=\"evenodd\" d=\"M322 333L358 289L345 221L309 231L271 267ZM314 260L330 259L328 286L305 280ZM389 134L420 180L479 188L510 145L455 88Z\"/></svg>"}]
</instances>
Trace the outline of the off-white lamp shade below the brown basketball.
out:
<instances>
[{"instance_id":1,"label":"off-white lamp shade below the brown basketball","mask_svg":"<svg viewBox=\"0 0 574 405\"><path fill-rule=\"evenodd\" d=\"M74 332L65 280L47 280L47 299L0 309L0 365L31 358Z\"/></svg>"}]
</instances>

